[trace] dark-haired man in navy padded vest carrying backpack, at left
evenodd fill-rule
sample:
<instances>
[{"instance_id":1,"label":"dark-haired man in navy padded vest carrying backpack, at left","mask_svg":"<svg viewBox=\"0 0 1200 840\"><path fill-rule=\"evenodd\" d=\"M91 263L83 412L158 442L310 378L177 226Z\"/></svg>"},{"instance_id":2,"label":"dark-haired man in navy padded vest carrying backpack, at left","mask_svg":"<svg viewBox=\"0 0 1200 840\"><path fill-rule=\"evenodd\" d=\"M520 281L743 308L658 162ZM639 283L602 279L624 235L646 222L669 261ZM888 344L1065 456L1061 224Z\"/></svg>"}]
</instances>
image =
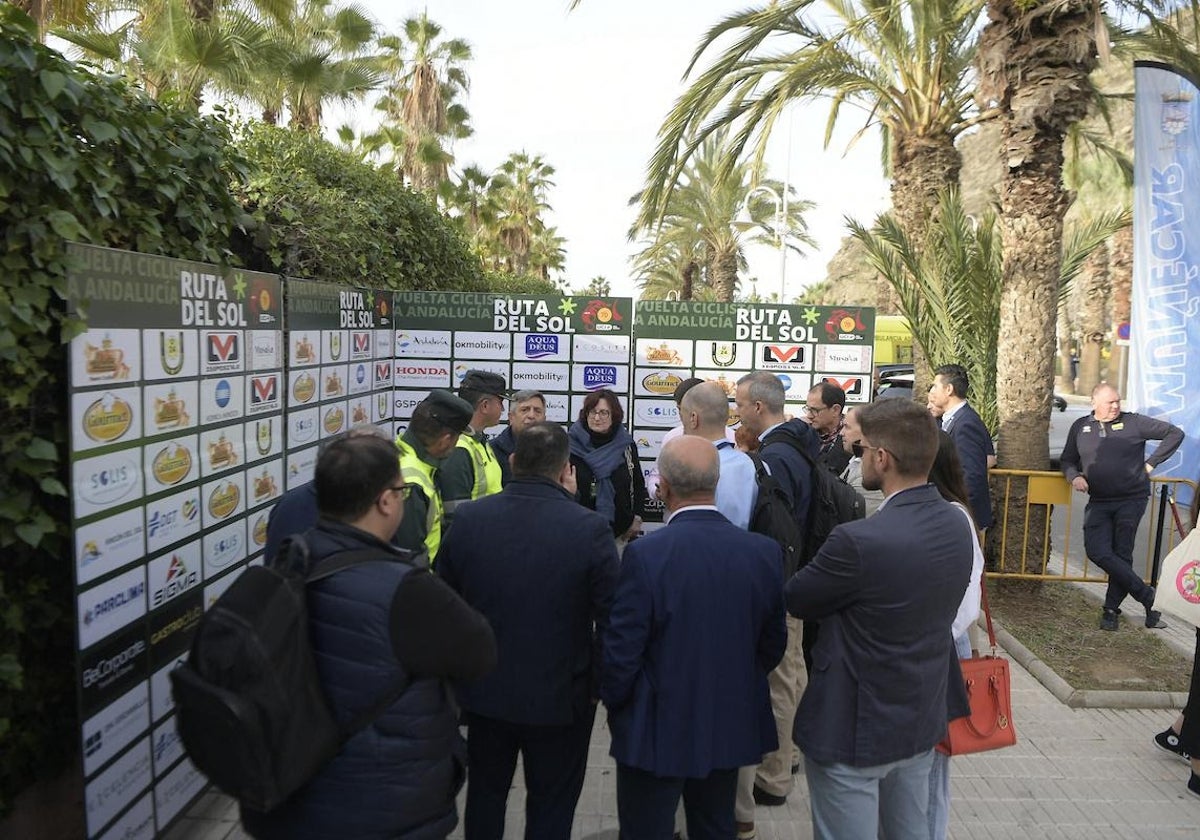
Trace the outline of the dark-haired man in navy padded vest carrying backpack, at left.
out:
<instances>
[{"instance_id":1,"label":"dark-haired man in navy padded vest carrying backpack, at left","mask_svg":"<svg viewBox=\"0 0 1200 840\"><path fill-rule=\"evenodd\" d=\"M344 742L283 804L262 812L242 803L242 823L272 840L445 836L466 776L448 680L491 671L496 638L424 558L389 544L409 492L394 444L337 440L313 482L320 520L304 541L319 580L307 586L308 631ZM376 557L358 557L364 550ZM349 552L354 564L320 575L323 560Z\"/></svg>"}]
</instances>

